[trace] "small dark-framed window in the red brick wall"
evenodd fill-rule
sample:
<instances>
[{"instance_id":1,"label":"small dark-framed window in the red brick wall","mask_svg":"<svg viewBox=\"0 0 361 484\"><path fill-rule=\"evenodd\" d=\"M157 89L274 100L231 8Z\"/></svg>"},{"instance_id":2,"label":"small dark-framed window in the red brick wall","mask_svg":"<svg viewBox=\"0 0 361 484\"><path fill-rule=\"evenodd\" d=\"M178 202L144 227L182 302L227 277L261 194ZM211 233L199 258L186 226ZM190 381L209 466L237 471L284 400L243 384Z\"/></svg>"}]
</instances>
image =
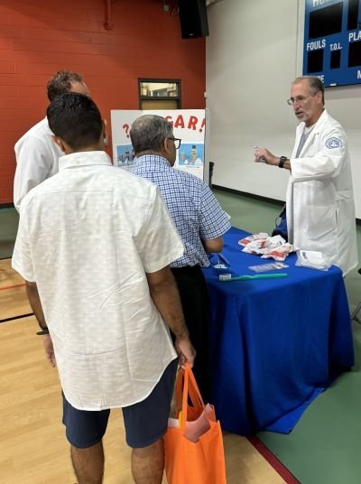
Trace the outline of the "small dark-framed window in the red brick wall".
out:
<instances>
[{"instance_id":1,"label":"small dark-framed window in the red brick wall","mask_svg":"<svg viewBox=\"0 0 361 484\"><path fill-rule=\"evenodd\" d=\"M180 109L180 80L139 79L141 109Z\"/></svg>"}]
</instances>

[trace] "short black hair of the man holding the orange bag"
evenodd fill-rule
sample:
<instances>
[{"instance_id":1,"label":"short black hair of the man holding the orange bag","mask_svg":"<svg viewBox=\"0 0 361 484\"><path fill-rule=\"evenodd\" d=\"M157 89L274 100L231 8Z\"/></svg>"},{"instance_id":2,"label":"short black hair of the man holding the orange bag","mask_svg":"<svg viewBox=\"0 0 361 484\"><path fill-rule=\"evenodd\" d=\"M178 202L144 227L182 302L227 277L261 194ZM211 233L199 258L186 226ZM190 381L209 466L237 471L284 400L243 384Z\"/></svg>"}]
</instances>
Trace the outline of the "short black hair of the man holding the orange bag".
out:
<instances>
[{"instance_id":1,"label":"short black hair of the man holding the orange bag","mask_svg":"<svg viewBox=\"0 0 361 484\"><path fill-rule=\"evenodd\" d=\"M102 135L99 109L85 94L61 94L51 102L46 116L53 134L74 151L97 144Z\"/></svg>"}]
</instances>

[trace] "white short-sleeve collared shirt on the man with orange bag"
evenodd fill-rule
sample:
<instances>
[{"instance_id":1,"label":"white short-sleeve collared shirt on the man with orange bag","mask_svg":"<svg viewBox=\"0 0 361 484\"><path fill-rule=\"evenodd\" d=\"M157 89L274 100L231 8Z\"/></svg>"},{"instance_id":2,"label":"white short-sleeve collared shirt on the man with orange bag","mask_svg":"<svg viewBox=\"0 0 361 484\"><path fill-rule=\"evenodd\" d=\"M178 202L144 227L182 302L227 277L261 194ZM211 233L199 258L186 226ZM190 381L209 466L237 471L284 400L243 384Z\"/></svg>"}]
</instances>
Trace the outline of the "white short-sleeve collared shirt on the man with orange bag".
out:
<instances>
[{"instance_id":1,"label":"white short-sleeve collared shirt on the man with orange bag","mask_svg":"<svg viewBox=\"0 0 361 484\"><path fill-rule=\"evenodd\" d=\"M105 152L61 157L23 199L13 267L38 286L71 405L127 406L152 392L176 353L145 273L182 254L155 185Z\"/></svg>"}]
</instances>

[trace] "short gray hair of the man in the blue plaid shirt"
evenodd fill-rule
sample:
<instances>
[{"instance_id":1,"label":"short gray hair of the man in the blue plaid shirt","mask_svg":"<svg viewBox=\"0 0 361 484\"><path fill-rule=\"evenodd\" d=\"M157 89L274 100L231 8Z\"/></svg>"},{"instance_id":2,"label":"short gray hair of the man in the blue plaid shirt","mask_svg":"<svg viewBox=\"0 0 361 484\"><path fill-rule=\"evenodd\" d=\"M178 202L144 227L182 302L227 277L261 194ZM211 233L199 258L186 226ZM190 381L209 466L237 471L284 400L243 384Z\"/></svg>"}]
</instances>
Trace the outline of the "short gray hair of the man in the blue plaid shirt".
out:
<instances>
[{"instance_id":1,"label":"short gray hair of the man in the blue plaid shirt","mask_svg":"<svg viewBox=\"0 0 361 484\"><path fill-rule=\"evenodd\" d=\"M144 115L135 119L129 135L137 155L145 151L159 151L163 140L173 136L173 128L162 116Z\"/></svg>"}]
</instances>

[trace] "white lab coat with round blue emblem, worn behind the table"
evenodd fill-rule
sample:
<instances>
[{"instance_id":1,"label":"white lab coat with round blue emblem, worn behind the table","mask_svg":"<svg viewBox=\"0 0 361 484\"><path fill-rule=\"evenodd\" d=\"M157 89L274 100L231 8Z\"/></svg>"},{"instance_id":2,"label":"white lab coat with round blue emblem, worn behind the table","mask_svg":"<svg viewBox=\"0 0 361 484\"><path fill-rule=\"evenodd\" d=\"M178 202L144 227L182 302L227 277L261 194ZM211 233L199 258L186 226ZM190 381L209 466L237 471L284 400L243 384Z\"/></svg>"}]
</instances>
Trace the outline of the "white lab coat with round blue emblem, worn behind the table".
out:
<instances>
[{"instance_id":1,"label":"white lab coat with round blue emblem, worn behind the table","mask_svg":"<svg viewBox=\"0 0 361 484\"><path fill-rule=\"evenodd\" d=\"M287 189L289 241L317 250L346 275L357 265L356 219L347 139L324 110L295 158L304 123L297 127Z\"/></svg>"}]
</instances>

